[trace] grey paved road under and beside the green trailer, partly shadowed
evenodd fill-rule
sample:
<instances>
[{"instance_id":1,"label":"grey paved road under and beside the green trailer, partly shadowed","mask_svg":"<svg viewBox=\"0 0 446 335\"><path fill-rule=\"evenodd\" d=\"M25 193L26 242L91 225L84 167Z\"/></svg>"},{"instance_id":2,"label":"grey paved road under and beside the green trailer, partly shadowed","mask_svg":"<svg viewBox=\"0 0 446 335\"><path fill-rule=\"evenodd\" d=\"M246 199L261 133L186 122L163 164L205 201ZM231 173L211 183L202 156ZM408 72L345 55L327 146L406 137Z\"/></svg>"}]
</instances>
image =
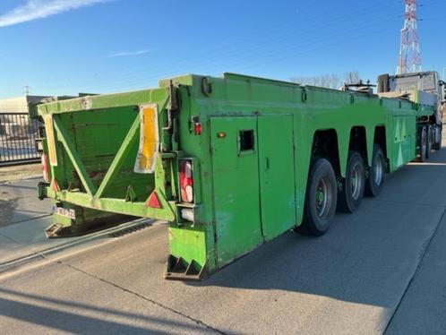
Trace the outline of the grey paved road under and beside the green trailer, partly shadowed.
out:
<instances>
[{"instance_id":1,"label":"grey paved road under and beside the green trailer, partly shadowed","mask_svg":"<svg viewBox=\"0 0 446 335\"><path fill-rule=\"evenodd\" d=\"M0 333L446 333L446 150L320 238L280 236L203 282L167 281L167 226L0 276Z\"/></svg>"}]
</instances>

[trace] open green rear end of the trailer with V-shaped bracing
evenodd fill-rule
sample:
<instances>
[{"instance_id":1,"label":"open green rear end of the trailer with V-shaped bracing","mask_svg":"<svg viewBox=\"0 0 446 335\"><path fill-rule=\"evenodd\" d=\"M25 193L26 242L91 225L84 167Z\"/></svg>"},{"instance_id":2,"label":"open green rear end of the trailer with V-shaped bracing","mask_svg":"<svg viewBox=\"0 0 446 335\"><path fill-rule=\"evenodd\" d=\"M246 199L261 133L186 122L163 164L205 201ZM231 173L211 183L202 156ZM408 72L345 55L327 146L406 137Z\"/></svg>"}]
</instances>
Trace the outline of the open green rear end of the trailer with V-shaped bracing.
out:
<instances>
[{"instance_id":1,"label":"open green rear end of the trailer with V-shaped bracing","mask_svg":"<svg viewBox=\"0 0 446 335\"><path fill-rule=\"evenodd\" d=\"M50 167L51 183L41 185L39 192L66 208L71 204L90 208L90 213L107 210L175 219L174 209L161 187L164 181L157 183L157 178L164 177L164 168L159 168L156 176L133 172L139 144L139 104L156 103L163 110L167 106L167 89L105 97L68 99L37 107L39 116L53 115L59 162ZM145 202L157 184L162 208L153 210ZM87 215L84 219L87 222L96 216ZM58 221L64 223L61 218Z\"/></svg>"}]
</instances>

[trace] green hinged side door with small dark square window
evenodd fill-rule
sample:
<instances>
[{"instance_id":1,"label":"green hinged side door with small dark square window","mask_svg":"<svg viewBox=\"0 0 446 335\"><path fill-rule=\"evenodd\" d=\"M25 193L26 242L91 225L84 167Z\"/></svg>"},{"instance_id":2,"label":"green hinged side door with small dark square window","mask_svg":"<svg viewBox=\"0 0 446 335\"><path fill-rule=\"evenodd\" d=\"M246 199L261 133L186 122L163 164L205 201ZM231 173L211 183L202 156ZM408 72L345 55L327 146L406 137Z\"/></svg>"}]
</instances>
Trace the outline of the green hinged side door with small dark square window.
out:
<instances>
[{"instance_id":1,"label":"green hinged side door with small dark square window","mask_svg":"<svg viewBox=\"0 0 446 335\"><path fill-rule=\"evenodd\" d=\"M262 244L257 117L212 117L210 145L218 262Z\"/></svg>"}]
</instances>

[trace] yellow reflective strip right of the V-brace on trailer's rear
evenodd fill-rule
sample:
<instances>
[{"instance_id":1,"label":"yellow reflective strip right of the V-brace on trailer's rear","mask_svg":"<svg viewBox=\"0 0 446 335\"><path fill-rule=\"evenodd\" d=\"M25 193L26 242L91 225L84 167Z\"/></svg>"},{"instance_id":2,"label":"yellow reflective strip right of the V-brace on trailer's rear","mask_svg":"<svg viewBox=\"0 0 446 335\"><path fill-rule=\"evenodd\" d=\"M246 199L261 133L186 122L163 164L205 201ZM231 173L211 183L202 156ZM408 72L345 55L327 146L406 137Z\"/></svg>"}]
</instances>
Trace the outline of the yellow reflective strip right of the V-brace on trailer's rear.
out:
<instances>
[{"instance_id":1,"label":"yellow reflective strip right of the V-brace on trailer's rear","mask_svg":"<svg viewBox=\"0 0 446 335\"><path fill-rule=\"evenodd\" d=\"M134 171L138 173L153 173L155 170L156 153L159 148L157 105L142 106L140 118L140 150Z\"/></svg>"}]
</instances>

